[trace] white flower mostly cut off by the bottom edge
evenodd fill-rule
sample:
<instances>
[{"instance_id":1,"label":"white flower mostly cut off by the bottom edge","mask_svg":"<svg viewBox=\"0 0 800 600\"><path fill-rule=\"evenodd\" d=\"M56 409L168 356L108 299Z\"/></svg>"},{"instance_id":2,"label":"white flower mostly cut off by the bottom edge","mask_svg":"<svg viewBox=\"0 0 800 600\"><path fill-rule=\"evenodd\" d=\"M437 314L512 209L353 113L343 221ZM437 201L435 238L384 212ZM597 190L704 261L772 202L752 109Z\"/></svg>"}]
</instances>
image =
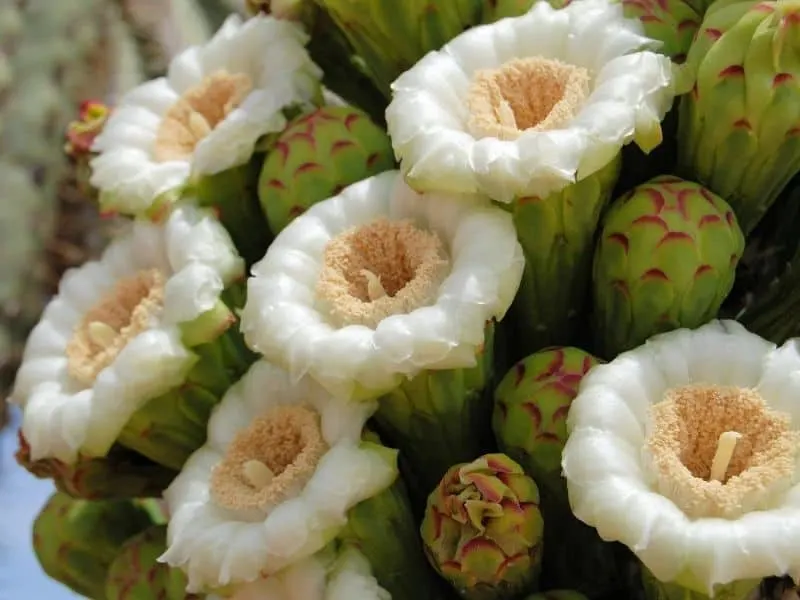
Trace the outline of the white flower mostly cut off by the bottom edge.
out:
<instances>
[{"instance_id":1,"label":"white flower mostly cut off by the bottom edge","mask_svg":"<svg viewBox=\"0 0 800 600\"><path fill-rule=\"evenodd\" d=\"M214 596L211 600L221 600ZM352 547L326 549L273 576L235 588L228 600L391 600L369 561Z\"/></svg>"}]
</instances>

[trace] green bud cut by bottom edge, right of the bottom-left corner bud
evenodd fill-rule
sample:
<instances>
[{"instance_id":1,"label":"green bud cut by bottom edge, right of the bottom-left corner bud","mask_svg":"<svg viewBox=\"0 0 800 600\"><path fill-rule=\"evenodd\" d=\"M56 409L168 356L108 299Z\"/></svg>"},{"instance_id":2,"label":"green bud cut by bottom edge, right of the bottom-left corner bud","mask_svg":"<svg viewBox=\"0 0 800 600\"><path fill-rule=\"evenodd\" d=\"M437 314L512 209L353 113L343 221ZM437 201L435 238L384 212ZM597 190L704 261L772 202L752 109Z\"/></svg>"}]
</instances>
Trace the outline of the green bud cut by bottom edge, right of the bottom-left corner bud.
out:
<instances>
[{"instance_id":1,"label":"green bud cut by bottom edge, right of the bottom-left corner bud","mask_svg":"<svg viewBox=\"0 0 800 600\"><path fill-rule=\"evenodd\" d=\"M186 575L158 562L167 549L167 526L154 525L128 539L105 578L105 600L199 600L186 592Z\"/></svg>"}]
</instances>

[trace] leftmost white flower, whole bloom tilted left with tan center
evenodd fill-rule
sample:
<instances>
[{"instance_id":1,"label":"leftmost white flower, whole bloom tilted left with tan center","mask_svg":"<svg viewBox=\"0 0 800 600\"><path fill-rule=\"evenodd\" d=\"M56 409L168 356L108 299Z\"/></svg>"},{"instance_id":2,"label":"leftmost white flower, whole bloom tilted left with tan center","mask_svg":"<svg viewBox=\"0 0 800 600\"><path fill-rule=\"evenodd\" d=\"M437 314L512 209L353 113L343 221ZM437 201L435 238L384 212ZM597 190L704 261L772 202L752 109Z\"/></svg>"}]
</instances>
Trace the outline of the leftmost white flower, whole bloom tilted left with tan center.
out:
<instances>
[{"instance_id":1,"label":"leftmost white flower, whole bloom tilted left with tan center","mask_svg":"<svg viewBox=\"0 0 800 600\"><path fill-rule=\"evenodd\" d=\"M196 360L183 327L243 274L227 232L191 207L133 223L100 260L67 272L12 396L31 459L104 455L133 413L183 382Z\"/></svg>"}]
</instances>

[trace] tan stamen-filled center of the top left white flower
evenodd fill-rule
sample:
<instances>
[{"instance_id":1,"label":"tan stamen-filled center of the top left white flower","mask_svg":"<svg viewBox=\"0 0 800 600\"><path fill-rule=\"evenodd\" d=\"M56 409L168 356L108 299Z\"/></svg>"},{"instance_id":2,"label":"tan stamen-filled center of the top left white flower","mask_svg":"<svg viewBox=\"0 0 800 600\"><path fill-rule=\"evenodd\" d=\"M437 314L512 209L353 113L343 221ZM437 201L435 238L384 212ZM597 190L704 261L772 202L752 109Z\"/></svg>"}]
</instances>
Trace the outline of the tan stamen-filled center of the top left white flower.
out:
<instances>
[{"instance_id":1,"label":"tan stamen-filled center of the top left white flower","mask_svg":"<svg viewBox=\"0 0 800 600\"><path fill-rule=\"evenodd\" d=\"M153 147L155 160L191 156L197 144L241 104L252 87L247 75L217 71L186 90L161 121Z\"/></svg>"}]
</instances>

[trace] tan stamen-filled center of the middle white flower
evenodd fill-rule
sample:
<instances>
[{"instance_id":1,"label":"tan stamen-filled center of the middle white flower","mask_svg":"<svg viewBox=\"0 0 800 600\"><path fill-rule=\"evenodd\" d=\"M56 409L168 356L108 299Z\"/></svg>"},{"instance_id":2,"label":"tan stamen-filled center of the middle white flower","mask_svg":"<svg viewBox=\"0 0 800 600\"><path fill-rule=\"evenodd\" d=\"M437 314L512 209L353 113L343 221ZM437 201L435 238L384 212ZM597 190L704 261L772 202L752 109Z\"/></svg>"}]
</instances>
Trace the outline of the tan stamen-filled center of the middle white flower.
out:
<instances>
[{"instance_id":1,"label":"tan stamen-filled center of the middle white flower","mask_svg":"<svg viewBox=\"0 0 800 600\"><path fill-rule=\"evenodd\" d=\"M379 219L328 242L317 298L337 326L374 328L435 301L448 266L435 233L411 221Z\"/></svg>"}]
</instances>

